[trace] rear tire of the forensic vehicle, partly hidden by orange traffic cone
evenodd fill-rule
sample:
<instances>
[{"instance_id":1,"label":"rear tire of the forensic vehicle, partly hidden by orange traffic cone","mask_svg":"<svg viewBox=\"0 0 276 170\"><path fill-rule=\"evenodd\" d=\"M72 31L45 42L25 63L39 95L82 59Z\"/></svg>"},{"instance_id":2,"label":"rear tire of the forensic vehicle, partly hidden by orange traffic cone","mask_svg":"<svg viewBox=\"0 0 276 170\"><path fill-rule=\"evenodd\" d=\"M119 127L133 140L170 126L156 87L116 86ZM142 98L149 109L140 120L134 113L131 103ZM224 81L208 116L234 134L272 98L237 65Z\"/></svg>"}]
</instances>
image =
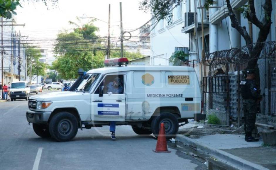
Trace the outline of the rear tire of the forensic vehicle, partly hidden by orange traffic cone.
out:
<instances>
[{"instance_id":1,"label":"rear tire of the forensic vehicle, partly hidden by orange traffic cone","mask_svg":"<svg viewBox=\"0 0 276 170\"><path fill-rule=\"evenodd\" d=\"M178 132L178 120L174 114L166 112L161 113L159 116L154 117L151 122L151 130L155 137L158 137L160 125L165 123L165 134L167 140L174 138Z\"/></svg>"}]
</instances>

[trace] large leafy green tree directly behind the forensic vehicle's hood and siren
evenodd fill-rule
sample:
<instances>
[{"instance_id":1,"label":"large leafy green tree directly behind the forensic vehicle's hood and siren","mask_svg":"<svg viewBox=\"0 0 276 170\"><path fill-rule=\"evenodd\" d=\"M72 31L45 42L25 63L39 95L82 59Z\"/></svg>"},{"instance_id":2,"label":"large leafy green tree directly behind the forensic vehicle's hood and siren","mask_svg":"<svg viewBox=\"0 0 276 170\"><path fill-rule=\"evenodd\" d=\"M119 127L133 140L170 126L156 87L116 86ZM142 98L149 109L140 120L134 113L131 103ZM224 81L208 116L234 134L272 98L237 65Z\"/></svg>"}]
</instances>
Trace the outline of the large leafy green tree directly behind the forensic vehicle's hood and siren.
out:
<instances>
[{"instance_id":1,"label":"large leafy green tree directly behind the forensic vehicle's hood and siren","mask_svg":"<svg viewBox=\"0 0 276 170\"><path fill-rule=\"evenodd\" d=\"M56 70L63 79L73 79L78 77L79 68L88 71L103 67L104 51L96 36L97 30L90 23L73 32L58 34L54 47L56 60L51 69Z\"/></svg>"}]
</instances>

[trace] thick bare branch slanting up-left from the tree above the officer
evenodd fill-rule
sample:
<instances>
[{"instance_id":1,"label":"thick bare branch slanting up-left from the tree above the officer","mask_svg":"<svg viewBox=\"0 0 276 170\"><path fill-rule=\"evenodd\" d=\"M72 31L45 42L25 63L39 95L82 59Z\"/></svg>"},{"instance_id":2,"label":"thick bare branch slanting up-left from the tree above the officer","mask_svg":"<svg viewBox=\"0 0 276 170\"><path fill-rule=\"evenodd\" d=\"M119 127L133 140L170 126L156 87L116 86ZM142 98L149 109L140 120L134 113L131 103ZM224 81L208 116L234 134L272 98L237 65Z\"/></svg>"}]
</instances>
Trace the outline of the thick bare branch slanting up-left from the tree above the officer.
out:
<instances>
[{"instance_id":1,"label":"thick bare branch slanting up-left from the tree above the officer","mask_svg":"<svg viewBox=\"0 0 276 170\"><path fill-rule=\"evenodd\" d=\"M232 22L231 26L233 28L236 28L236 30L241 34L241 36L243 36L246 45L252 44L252 41L251 41L250 36L247 33L246 29L243 28L240 25L239 21L237 20L237 17L236 17L236 15L233 12L233 9L231 7L230 0L226 0L226 4L227 4L228 11L229 11L228 15L229 15L229 17L231 19L231 22Z\"/></svg>"}]
</instances>

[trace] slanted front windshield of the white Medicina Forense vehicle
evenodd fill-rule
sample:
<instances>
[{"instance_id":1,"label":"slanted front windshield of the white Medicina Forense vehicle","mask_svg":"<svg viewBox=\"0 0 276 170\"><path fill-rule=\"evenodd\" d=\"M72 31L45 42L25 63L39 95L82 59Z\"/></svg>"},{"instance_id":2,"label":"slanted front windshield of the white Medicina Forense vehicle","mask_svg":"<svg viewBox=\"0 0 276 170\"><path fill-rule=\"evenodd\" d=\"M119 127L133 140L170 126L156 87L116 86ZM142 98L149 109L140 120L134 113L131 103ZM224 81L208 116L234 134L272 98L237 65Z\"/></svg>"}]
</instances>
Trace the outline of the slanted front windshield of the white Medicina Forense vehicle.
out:
<instances>
[{"instance_id":1,"label":"slanted front windshield of the white Medicina Forense vehicle","mask_svg":"<svg viewBox=\"0 0 276 170\"><path fill-rule=\"evenodd\" d=\"M82 82L77 87L77 89L79 91L84 90L85 92L89 92L91 87L94 85L96 80L99 78L99 75L100 75L99 73L86 74L84 76L84 79L82 80Z\"/></svg>"}]
</instances>

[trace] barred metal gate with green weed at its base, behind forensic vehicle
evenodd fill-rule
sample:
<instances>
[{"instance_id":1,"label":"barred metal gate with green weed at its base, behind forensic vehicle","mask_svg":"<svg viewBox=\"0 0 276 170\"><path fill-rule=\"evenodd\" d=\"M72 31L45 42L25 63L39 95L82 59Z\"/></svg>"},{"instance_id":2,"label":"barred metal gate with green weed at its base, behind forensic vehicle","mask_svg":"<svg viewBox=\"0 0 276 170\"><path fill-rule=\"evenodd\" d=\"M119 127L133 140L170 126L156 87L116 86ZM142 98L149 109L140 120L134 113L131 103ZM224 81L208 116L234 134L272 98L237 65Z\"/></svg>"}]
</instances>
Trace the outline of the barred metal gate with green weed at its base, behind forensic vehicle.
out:
<instances>
[{"instance_id":1,"label":"barred metal gate with green weed at its base, behind forensic vehicle","mask_svg":"<svg viewBox=\"0 0 276 170\"><path fill-rule=\"evenodd\" d=\"M229 126L229 77L203 77L202 101L206 114L204 125Z\"/></svg>"}]
</instances>

